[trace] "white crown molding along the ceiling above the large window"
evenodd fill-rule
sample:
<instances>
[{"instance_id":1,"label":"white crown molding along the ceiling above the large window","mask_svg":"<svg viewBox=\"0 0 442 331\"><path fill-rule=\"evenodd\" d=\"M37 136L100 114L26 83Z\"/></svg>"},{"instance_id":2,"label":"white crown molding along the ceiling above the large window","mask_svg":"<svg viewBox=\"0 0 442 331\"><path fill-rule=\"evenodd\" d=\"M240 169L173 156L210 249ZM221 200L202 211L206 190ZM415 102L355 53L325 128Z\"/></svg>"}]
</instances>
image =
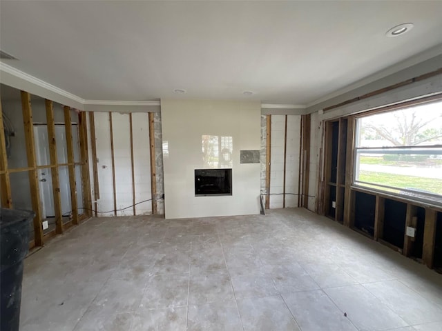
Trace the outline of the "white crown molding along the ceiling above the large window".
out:
<instances>
[{"instance_id":1,"label":"white crown molding along the ceiling above the large window","mask_svg":"<svg viewBox=\"0 0 442 331\"><path fill-rule=\"evenodd\" d=\"M364 79L356 81L355 83L353 83L349 86L346 86L345 88L341 88L340 90L337 90L335 92L325 95L324 97L320 97L319 99L316 99L315 101L307 103L307 108L309 108L311 106L315 106L318 103L327 101L329 99L333 99L334 97L338 97L341 94L350 92L352 90L355 90L356 88L361 88L362 86L365 86L369 83L373 83L374 81L377 81L378 79L383 79L387 76L390 76L390 74L394 74L396 72L399 72L401 70L404 70L406 68L414 66L416 64L419 64L423 61L426 61L428 59L431 59L432 57L436 57L441 54L442 54L442 44L435 46L433 48L430 48L429 50L425 50L424 52L421 52L419 54L416 54L414 57L410 57L402 62L396 63L394 66L386 68L385 70L381 70L379 72L376 72L376 74L372 74L368 77L365 77Z\"/></svg>"}]
</instances>

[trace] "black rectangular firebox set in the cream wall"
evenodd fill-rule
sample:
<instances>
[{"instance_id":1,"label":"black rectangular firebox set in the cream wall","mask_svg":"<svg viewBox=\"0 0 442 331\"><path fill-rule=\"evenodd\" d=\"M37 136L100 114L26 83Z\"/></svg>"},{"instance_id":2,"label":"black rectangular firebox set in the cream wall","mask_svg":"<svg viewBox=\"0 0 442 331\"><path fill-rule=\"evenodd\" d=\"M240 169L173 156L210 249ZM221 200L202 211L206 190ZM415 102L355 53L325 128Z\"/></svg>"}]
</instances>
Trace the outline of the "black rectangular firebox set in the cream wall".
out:
<instances>
[{"instance_id":1,"label":"black rectangular firebox set in the cream wall","mask_svg":"<svg viewBox=\"0 0 442 331\"><path fill-rule=\"evenodd\" d=\"M231 169L195 169L195 197L232 195Z\"/></svg>"}]
</instances>

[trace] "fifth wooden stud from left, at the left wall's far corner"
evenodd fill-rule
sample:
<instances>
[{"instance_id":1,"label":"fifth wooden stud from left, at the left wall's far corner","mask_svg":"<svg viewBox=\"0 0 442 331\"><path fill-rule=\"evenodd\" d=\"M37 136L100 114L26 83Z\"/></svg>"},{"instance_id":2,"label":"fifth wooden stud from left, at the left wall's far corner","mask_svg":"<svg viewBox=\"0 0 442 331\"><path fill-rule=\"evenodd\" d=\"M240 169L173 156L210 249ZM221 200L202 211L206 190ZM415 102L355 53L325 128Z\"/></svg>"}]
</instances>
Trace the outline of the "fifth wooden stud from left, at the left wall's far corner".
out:
<instances>
[{"instance_id":1,"label":"fifth wooden stud from left, at the left wall's far corner","mask_svg":"<svg viewBox=\"0 0 442 331\"><path fill-rule=\"evenodd\" d=\"M92 216L92 205L90 195L90 177L89 177L89 156L88 156L88 133L86 126L86 112L78 114L78 131L80 142L81 157L81 190L83 192L83 208L85 214ZM81 221L81 217L78 219Z\"/></svg>"}]
</instances>

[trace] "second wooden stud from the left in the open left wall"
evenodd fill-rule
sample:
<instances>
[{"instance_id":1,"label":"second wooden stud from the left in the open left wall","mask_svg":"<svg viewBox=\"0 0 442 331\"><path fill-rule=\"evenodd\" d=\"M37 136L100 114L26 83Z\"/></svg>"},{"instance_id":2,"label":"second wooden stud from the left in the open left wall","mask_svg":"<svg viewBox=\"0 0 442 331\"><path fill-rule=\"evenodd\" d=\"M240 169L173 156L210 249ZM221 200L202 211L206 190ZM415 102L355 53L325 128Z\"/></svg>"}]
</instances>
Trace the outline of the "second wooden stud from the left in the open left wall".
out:
<instances>
[{"instance_id":1,"label":"second wooden stud from the left in the open left wall","mask_svg":"<svg viewBox=\"0 0 442 331\"><path fill-rule=\"evenodd\" d=\"M21 91L21 110L23 112L23 128L25 131L26 157L28 159L29 185L32 210L34 217L34 239L36 246L44 244L43 228L41 226L41 201L39 190L39 179L37 173L37 159L35 158L34 123L32 121L32 108L30 105L30 94Z\"/></svg>"}]
</instances>

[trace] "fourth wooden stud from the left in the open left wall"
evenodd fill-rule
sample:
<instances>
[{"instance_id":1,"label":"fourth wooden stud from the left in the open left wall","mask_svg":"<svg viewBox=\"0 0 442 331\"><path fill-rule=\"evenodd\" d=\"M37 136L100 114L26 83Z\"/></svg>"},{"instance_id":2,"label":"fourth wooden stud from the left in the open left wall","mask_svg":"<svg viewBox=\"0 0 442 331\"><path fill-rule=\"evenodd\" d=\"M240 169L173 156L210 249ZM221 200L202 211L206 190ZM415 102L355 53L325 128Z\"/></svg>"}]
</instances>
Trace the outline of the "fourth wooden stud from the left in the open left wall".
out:
<instances>
[{"instance_id":1,"label":"fourth wooden stud from the left in the open left wall","mask_svg":"<svg viewBox=\"0 0 442 331\"><path fill-rule=\"evenodd\" d=\"M75 181L74 144L72 134L72 121L70 120L70 107L64 106L64 128L66 131L66 148L68 152L68 171L70 187L70 210L72 211L73 224L78 224L77 183Z\"/></svg>"}]
</instances>

